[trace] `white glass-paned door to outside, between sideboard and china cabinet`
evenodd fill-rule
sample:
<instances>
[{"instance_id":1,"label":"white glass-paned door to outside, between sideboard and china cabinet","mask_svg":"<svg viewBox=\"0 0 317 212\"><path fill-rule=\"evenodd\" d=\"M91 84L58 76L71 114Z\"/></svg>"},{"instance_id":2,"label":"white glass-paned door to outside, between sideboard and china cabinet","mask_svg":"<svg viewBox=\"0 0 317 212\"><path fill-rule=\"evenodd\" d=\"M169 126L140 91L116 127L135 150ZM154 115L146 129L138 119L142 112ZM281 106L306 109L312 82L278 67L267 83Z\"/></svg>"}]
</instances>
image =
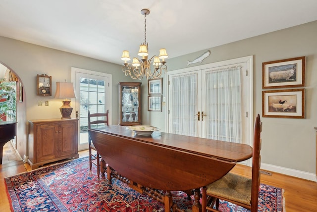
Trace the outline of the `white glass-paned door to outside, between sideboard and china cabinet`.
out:
<instances>
[{"instance_id":1,"label":"white glass-paned door to outside, between sideboard and china cabinet","mask_svg":"<svg viewBox=\"0 0 317 212\"><path fill-rule=\"evenodd\" d=\"M105 113L109 109L111 122L111 75L72 68L75 78L76 111L78 111L78 150L88 149L88 111Z\"/></svg>"}]
</instances>

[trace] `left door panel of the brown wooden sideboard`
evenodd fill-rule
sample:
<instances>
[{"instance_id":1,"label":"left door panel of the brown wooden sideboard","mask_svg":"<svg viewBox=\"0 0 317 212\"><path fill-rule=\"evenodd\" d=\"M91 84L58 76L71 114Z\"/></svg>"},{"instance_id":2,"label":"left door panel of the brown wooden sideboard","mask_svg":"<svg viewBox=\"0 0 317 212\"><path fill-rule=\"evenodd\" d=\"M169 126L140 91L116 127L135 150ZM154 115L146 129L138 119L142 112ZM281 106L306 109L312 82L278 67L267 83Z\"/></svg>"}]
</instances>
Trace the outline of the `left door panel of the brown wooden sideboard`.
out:
<instances>
[{"instance_id":1,"label":"left door panel of the brown wooden sideboard","mask_svg":"<svg viewBox=\"0 0 317 212\"><path fill-rule=\"evenodd\" d=\"M37 125L37 162L54 159L57 152L56 124Z\"/></svg>"}]
</instances>

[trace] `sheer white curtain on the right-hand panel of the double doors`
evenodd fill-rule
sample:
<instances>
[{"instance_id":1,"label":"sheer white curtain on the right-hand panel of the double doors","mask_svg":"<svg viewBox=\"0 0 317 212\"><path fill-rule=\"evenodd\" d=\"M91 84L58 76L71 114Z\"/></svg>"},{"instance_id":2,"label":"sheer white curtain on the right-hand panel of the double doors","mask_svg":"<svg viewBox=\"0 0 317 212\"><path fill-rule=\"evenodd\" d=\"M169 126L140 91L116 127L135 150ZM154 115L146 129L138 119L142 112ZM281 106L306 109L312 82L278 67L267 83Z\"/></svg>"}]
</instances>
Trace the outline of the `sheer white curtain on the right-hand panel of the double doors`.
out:
<instances>
[{"instance_id":1,"label":"sheer white curtain on the right-hand panel of the double doors","mask_svg":"<svg viewBox=\"0 0 317 212\"><path fill-rule=\"evenodd\" d=\"M206 71L205 85L206 137L241 143L240 67L233 66Z\"/></svg>"}]
</instances>

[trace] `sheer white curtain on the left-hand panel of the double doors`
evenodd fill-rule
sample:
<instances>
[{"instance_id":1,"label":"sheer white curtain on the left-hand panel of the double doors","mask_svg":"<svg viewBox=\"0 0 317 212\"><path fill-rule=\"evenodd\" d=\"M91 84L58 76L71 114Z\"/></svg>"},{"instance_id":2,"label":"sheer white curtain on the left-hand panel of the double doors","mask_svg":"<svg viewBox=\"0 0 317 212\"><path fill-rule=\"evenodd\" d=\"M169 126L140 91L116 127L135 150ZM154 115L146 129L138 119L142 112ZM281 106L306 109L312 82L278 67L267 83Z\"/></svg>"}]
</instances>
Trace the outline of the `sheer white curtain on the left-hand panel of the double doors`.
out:
<instances>
[{"instance_id":1,"label":"sheer white curtain on the left-hand panel of the double doors","mask_svg":"<svg viewBox=\"0 0 317 212\"><path fill-rule=\"evenodd\" d=\"M171 77L171 133L196 136L197 73Z\"/></svg>"}]
</instances>

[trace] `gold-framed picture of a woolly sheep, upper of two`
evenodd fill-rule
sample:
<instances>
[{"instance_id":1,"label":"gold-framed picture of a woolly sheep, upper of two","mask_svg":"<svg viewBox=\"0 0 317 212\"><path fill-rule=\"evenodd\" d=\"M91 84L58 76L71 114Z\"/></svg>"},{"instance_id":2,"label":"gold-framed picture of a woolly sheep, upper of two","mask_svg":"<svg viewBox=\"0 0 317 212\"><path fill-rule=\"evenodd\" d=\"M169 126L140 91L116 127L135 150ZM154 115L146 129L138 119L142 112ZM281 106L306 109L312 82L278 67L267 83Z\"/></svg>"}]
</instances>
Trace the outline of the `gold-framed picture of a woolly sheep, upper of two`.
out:
<instances>
[{"instance_id":1,"label":"gold-framed picture of a woolly sheep, upper of two","mask_svg":"<svg viewBox=\"0 0 317 212\"><path fill-rule=\"evenodd\" d=\"M262 88L305 87L305 56L262 63Z\"/></svg>"}]
</instances>

